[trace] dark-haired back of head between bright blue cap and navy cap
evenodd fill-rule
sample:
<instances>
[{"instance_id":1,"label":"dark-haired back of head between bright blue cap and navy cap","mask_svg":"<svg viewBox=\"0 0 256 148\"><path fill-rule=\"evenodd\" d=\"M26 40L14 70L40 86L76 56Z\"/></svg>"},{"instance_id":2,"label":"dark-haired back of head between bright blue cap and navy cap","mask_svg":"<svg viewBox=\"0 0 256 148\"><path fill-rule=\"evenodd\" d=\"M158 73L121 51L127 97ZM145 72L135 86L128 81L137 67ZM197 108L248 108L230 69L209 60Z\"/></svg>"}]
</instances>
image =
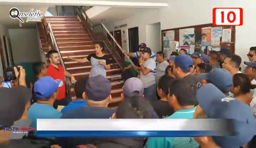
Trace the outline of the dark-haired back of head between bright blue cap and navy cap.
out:
<instances>
[{"instance_id":1,"label":"dark-haired back of head between bright blue cap and navy cap","mask_svg":"<svg viewBox=\"0 0 256 148\"><path fill-rule=\"evenodd\" d=\"M85 92L86 83L87 83L87 78L81 78L75 82L74 90L75 90L76 98L82 98L82 94Z\"/></svg>"}]
</instances>

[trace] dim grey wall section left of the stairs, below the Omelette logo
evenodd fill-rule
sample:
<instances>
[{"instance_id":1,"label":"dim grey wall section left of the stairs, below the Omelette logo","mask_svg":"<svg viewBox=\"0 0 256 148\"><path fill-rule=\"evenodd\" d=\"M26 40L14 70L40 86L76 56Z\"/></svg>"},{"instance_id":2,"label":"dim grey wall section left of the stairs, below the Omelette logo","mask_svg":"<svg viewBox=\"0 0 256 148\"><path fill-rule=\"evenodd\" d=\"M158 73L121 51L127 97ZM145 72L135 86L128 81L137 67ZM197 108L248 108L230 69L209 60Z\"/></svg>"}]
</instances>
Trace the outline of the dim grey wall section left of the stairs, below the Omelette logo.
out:
<instances>
[{"instance_id":1,"label":"dim grey wall section left of the stairs, below the Omelette logo","mask_svg":"<svg viewBox=\"0 0 256 148\"><path fill-rule=\"evenodd\" d=\"M36 29L9 29L14 63L41 61Z\"/></svg>"}]
</instances>

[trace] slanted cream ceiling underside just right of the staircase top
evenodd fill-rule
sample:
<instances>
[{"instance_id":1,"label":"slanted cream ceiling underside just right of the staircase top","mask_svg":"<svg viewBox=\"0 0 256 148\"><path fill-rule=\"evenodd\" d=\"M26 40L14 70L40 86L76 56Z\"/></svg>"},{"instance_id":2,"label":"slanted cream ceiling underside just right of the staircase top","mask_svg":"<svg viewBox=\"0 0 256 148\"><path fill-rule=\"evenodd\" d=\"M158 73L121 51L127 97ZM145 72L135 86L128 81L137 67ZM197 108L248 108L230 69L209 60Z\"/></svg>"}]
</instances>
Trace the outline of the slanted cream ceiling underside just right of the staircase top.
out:
<instances>
[{"instance_id":1,"label":"slanted cream ceiling underside just right of the staircase top","mask_svg":"<svg viewBox=\"0 0 256 148\"><path fill-rule=\"evenodd\" d=\"M95 17L90 18L93 24L114 22L125 19L130 16L134 16L136 13L146 9L153 8L123 8L123 7L111 7L108 10L96 15ZM105 19L104 21L101 21Z\"/></svg>"}]
</instances>

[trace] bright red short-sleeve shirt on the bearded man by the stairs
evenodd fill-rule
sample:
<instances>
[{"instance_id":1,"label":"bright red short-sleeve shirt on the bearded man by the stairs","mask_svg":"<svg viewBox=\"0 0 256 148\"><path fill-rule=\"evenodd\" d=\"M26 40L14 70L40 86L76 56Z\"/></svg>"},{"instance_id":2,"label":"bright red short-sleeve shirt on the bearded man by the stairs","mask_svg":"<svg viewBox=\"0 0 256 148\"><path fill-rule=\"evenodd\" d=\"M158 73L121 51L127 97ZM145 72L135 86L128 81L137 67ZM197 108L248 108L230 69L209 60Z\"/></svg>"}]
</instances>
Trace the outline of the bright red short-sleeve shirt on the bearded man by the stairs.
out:
<instances>
[{"instance_id":1,"label":"bright red short-sleeve shirt on the bearded man by the stairs","mask_svg":"<svg viewBox=\"0 0 256 148\"><path fill-rule=\"evenodd\" d=\"M65 83L64 69L60 64L58 64L58 68L54 67L52 64L49 64L47 67L47 70L48 70L47 71L48 76L51 76L54 80L60 79L63 81L63 83ZM63 85L62 87L59 87L58 91L59 91L59 95L57 99L65 98L65 93L66 93L65 85Z\"/></svg>"}]
</instances>

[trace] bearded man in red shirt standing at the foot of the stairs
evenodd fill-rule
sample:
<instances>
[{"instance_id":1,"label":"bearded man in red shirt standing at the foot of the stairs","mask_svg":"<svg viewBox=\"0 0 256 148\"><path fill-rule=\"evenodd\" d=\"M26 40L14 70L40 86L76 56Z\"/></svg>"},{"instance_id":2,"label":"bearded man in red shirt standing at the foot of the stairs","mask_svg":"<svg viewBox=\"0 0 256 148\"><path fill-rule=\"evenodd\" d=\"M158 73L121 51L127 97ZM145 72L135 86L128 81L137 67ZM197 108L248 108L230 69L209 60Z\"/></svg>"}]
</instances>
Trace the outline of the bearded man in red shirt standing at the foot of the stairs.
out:
<instances>
[{"instance_id":1,"label":"bearded man in red shirt standing at the foot of the stairs","mask_svg":"<svg viewBox=\"0 0 256 148\"><path fill-rule=\"evenodd\" d=\"M58 51L51 50L47 53L47 56L50 60L50 63L47 67L47 75L51 76L54 80L60 79L63 82L65 82L65 76L68 76L71 79L71 83L75 83L75 78L72 74L67 72L63 67L60 65L60 56ZM54 106L66 106L70 102L68 98L65 97L65 85L58 88L59 95L54 102Z\"/></svg>"}]
</instances>

